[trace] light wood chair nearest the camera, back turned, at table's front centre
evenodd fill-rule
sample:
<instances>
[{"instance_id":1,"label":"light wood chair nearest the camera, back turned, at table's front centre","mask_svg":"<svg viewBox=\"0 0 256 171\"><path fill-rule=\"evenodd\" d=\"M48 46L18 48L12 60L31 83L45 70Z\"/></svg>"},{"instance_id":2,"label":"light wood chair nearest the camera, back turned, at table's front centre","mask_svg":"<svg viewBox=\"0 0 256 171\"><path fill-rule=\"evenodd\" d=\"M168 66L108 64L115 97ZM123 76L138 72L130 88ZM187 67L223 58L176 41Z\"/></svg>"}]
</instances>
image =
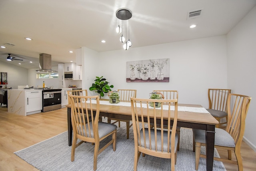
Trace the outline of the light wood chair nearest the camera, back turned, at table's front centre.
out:
<instances>
[{"instance_id":1,"label":"light wood chair nearest the camera, back turned, at table's front centre","mask_svg":"<svg viewBox=\"0 0 256 171\"><path fill-rule=\"evenodd\" d=\"M150 103L154 107L150 107ZM162 103L156 107L156 103ZM140 154L171 159L171 170L175 170L178 134L176 133L178 117L178 99L138 99L131 97L132 125L134 133L134 171L137 170ZM171 106L174 110L171 110ZM171 115L173 124L171 125ZM164 117L168 118L168 127L164 127ZM157 129L151 129L160 124ZM171 131L172 128L172 131Z\"/></svg>"}]
</instances>

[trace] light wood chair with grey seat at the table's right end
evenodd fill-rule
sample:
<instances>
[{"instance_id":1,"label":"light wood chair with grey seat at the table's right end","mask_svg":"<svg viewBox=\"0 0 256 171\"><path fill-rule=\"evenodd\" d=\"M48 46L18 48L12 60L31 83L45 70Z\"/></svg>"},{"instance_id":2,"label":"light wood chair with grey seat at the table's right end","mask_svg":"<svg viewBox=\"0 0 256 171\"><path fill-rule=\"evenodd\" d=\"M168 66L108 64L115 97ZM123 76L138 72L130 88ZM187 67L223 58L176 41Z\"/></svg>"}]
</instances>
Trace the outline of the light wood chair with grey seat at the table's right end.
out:
<instances>
[{"instance_id":1,"label":"light wood chair with grey seat at the table's right end","mask_svg":"<svg viewBox=\"0 0 256 171\"><path fill-rule=\"evenodd\" d=\"M215 128L214 147L228 150L228 159L214 157L214 160L238 165L238 170L243 170L240 147L244 136L245 118L249 109L252 97L239 94L228 94L227 112L228 120L226 129ZM205 146L205 131L193 130L193 151L196 151L196 170L198 170L199 158L205 155L200 154L201 146ZM234 151L236 161L232 160L231 152Z\"/></svg>"}]
</instances>

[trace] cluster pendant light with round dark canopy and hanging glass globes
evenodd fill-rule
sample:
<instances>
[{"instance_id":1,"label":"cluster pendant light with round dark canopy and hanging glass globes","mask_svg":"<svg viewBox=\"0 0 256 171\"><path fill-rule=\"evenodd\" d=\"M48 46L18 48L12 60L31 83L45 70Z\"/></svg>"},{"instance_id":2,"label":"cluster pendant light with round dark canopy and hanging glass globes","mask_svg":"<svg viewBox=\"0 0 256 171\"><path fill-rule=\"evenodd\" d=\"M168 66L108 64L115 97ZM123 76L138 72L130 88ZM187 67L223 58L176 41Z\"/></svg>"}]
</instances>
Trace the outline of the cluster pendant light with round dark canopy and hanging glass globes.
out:
<instances>
[{"instance_id":1,"label":"cluster pendant light with round dark canopy and hanging glass globes","mask_svg":"<svg viewBox=\"0 0 256 171\"><path fill-rule=\"evenodd\" d=\"M126 32L126 38L124 38L123 36L123 20L129 20L130 18L132 18L132 12L130 10L128 10L127 8L120 8L116 11L116 17L119 19L118 20L118 27L116 28L116 32L120 33L122 32L122 36L120 37L120 42L125 42L125 44L123 45L124 50L128 50L129 47L132 46L132 42L130 41L130 21L129 22L129 26L128 26L128 34L129 34L129 38L127 41L127 25L126 25L126 21L125 21L125 32ZM119 21L122 20L122 29L120 28L119 25ZM121 31L120 31L121 30Z\"/></svg>"}]
</instances>

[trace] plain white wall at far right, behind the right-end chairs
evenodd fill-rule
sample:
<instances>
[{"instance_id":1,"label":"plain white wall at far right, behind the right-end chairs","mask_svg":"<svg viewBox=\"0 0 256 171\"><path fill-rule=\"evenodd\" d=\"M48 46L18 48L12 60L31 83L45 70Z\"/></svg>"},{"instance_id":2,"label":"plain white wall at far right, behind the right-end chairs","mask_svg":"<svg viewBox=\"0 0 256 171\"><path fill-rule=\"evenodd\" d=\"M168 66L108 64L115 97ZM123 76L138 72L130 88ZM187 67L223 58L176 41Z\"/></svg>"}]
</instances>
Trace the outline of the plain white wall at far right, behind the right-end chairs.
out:
<instances>
[{"instance_id":1,"label":"plain white wall at far right, behind the right-end chairs","mask_svg":"<svg viewBox=\"0 0 256 171\"><path fill-rule=\"evenodd\" d=\"M228 33L228 87L252 97L244 139L256 151L256 6Z\"/></svg>"}]
</instances>

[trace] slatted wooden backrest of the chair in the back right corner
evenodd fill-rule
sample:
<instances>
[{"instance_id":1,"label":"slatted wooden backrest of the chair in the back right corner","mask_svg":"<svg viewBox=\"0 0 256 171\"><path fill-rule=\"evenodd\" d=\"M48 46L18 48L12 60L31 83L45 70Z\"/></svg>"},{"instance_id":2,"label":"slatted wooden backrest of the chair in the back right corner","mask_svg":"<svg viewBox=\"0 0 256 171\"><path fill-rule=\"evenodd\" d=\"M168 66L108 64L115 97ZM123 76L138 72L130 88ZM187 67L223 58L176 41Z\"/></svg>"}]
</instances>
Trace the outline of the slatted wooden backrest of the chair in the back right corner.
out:
<instances>
[{"instance_id":1,"label":"slatted wooden backrest of the chair in the back right corner","mask_svg":"<svg viewBox=\"0 0 256 171\"><path fill-rule=\"evenodd\" d=\"M209 109L225 111L227 109L227 97L231 89L208 89Z\"/></svg>"}]
</instances>

